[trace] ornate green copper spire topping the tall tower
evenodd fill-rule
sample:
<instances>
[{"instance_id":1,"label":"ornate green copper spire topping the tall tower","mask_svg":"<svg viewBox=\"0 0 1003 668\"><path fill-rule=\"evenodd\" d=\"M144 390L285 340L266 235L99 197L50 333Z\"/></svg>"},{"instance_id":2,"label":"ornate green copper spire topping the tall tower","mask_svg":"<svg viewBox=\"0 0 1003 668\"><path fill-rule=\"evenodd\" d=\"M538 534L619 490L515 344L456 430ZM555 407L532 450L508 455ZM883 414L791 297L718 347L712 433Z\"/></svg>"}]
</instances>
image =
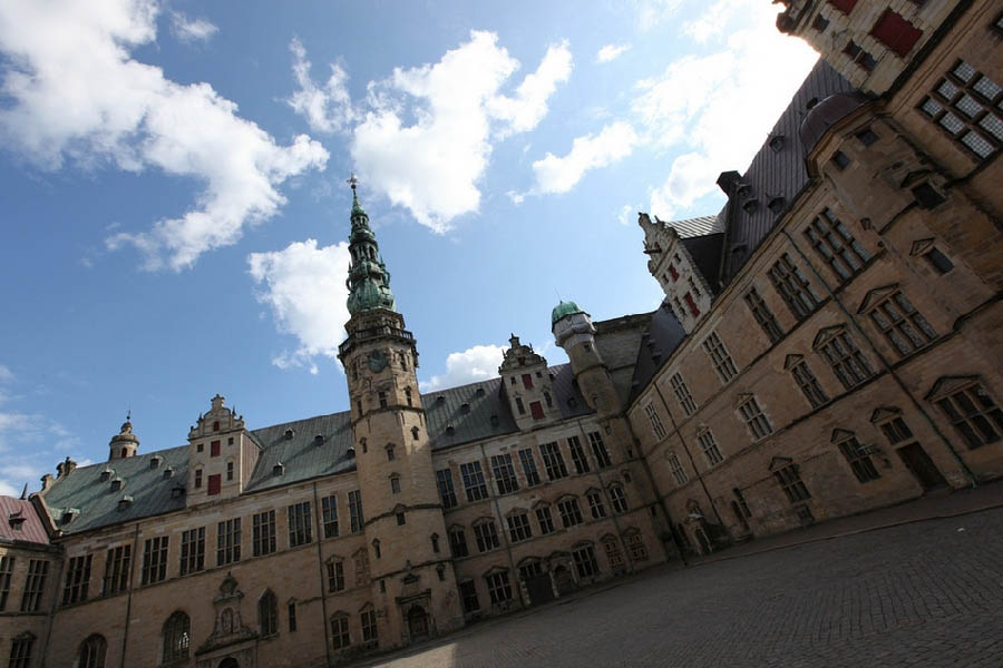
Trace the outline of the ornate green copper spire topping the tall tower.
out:
<instances>
[{"instance_id":1,"label":"ornate green copper spire topping the tall tower","mask_svg":"<svg viewBox=\"0 0 1003 668\"><path fill-rule=\"evenodd\" d=\"M369 216L359 203L356 186L359 179L353 174L348 183L352 186L352 232L349 236L349 253L352 264L349 267L348 288L349 313L356 315L362 311L387 308L393 311L393 293L390 292L390 272L380 257L380 247L376 235L369 228Z\"/></svg>"}]
</instances>

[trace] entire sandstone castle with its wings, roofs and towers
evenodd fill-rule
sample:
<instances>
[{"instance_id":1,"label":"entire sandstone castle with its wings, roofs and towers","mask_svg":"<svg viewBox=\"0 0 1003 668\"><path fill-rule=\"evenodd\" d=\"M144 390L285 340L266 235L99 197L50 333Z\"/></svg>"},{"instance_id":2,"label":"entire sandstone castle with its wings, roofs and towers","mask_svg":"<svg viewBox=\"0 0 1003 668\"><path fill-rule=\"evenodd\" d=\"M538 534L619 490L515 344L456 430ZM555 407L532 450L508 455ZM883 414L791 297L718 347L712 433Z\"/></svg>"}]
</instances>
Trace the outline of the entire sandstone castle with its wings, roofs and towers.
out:
<instances>
[{"instance_id":1,"label":"entire sandstone castle with its wings, roofs and towers","mask_svg":"<svg viewBox=\"0 0 1003 668\"><path fill-rule=\"evenodd\" d=\"M593 582L1003 475L1003 7L787 0L822 59L717 216L645 214L653 313L420 394L350 215L350 410L67 460L0 498L11 668L332 666ZM994 185L995 184L995 185Z\"/></svg>"}]
</instances>

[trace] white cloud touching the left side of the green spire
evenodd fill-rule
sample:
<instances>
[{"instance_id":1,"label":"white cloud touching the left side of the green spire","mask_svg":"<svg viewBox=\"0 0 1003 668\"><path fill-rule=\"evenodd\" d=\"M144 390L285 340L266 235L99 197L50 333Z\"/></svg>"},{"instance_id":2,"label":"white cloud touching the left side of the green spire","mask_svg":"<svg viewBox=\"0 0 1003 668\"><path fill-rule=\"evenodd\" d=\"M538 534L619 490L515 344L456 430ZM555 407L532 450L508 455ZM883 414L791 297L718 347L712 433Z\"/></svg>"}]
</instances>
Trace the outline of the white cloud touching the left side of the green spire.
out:
<instances>
[{"instance_id":1,"label":"white cloud touching the left side of the green spire","mask_svg":"<svg viewBox=\"0 0 1003 668\"><path fill-rule=\"evenodd\" d=\"M255 283L263 284L257 299L271 307L279 330L300 342L295 351L283 351L272 363L318 373L318 356L337 358L349 320L348 244L318 248L314 239L294 242L282 250L252 253L247 263Z\"/></svg>"}]
</instances>

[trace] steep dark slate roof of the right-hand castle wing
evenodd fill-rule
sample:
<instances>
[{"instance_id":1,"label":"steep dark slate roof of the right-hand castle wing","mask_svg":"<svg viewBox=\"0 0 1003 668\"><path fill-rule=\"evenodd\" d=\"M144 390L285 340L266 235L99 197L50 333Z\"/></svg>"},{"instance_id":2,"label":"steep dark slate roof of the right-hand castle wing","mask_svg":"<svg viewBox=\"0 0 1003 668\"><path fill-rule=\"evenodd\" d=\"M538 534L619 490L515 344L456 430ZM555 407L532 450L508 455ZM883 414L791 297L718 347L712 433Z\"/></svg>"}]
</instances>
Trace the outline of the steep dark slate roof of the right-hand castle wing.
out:
<instances>
[{"instance_id":1,"label":"steep dark slate roof of the right-hand castle wing","mask_svg":"<svg viewBox=\"0 0 1003 668\"><path fill-rule=\"evenodd\" d=\"M721 283L727 284L741 269L746 261L756 250L763 237L773 228L780 216L790 206L801 189L808 184L808 171L805 167L805 147L798 130L801 121L819 101L838 92L849 92L854 87L839 72L819 59L805 82L795 94L780 119L770 131L767 141L752 158L749 168L741 175L741 185L749 186L748 193L739 195L729 193L726 206L728 235L724 248L726 266ZM770 143L779 150L771 148ZM770 209L770 200L782 198L782 207L776 213ZM754 208L743 208L754 200ZM722 218L724 218L722 215ZM674 223L672 225L675 225ZM743 247L743 248L740 248Z\"/></svg>"}]
</instances>

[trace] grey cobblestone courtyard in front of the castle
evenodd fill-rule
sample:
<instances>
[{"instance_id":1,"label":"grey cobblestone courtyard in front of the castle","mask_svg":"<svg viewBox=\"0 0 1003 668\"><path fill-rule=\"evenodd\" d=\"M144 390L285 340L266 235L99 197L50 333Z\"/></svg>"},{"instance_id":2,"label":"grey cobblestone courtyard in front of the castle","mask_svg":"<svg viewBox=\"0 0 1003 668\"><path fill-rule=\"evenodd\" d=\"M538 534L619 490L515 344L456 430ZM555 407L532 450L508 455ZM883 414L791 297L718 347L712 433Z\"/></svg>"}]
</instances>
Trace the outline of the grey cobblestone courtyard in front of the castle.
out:
<instances>
[{"instance_id":1,"label":"grey cobblestone courtyard in front of the castle","mask_svg":"<svg viewBox=\"0 0 1003 668\"><path fill-rule=\"evenodd\" d=\"M1003 666L1003 509L659 570L370 666Z\"/></svg>"}]
</instances>

